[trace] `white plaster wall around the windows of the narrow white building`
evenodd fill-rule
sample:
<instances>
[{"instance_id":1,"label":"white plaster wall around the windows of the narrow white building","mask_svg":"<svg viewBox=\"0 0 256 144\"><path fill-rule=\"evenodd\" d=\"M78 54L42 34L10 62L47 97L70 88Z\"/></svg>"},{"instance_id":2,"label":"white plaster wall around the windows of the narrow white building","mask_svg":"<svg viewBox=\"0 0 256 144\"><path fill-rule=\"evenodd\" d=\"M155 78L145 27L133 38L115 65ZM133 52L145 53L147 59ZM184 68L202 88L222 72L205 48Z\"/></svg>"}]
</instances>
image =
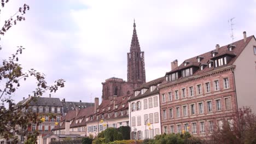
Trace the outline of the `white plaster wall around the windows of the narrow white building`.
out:
<instances>
[{"instance_id":1,"label":"white plaster wall around the windows of the narrow white building","mask_svg":"<svg viewBox=\"0 0 256 144\"><path fill-rule=\"evenodd\" d=\"M148 90L150 91L150 89ZM158 97L158 106L154 107L154 97ZM153 107L148 109L144 109L144 99L148 99L152 98L153 99ZM154 113L158 112L158 123L154 123L150 126L150 128L154 127L154 136L155 136L155 129L159 129L159 134L161 134L161 121L160 121L160 101L159 101L159 94L155 94L155 95L150 95L148 97L144 97L138 100L133 100L130 101L129 103L129 111L131 110L131 105L132 103L137 103L137 101L141 101L141 110L136 110L136 111L131 111L131 115L129 117L129 120L132 117L136 117L136 126L132 127L131 121L130 121L130 126L131 126L131 132L136 129L137 131L142 131L142 139L146 139L146 135L145 135L145 124L144 124L144 115L149 115L150 113L153 113L153 119L154 119ZM141 125L137 125L137 116L141 116ZM147 121L148 123L148 121ZM147 125L147 130L149 130L148 125ZM132 135L132 134L131 134ZM150 134L149 134L150 135ZM147 137L149 138L149 137ZM153 139L153 137L150 137L151 139Z\"/></svg>"}]
</instances>

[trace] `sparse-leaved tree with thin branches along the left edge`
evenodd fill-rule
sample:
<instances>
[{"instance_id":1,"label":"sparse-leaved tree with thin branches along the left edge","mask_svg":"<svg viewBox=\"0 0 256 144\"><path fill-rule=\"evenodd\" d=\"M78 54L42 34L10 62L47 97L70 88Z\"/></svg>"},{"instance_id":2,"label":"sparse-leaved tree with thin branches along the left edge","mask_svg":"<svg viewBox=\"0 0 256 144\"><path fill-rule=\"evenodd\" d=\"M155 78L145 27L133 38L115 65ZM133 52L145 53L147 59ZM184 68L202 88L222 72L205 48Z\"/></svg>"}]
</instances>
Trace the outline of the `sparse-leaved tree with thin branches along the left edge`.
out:
<instances>
[{"instance_id":1,"label":"sparse-leaved tree with thin branches along the left edge","mask_svg":"<svg viewBox=\"0 0 256 144\"><path fill-rule=\"evenodd\" d=\"M9 0L1 1L2 8L0 11L8 2ZM10 19L4 22L3 27L0 29L0 35L3 37L11 27L20 21L24 21L27 10L30 10L27 4L20 7ZM36 143L38 131L28 133L28 131L24 131L21 127L26 128L30 122L39 124L40 117L38 117L37 113L33 113L32 111L24 113L22 110L28 109L28 104L30 104L32 100L37 100L43 93L48 91L56 92L59 87L64 87L65 81L59 79L55 81L54 85L49 86L45 81L45 75L43 73L39 73L39 71L34 69L24 72L21 64L18 63L18 56L22 54L24 49L24 47L18 46L18 50L16 50L13 55L0 63L0 99L2 102L0 104L0 136L7 140L12 139L11 141L16 143L18 139L15 134L22 132L22 134L26 135L28 138L26 143ZM0 52L1 50L2 47L0 46ZM12 95L16 89L21 87L20 82L25 81L28 77L32 77L36 80L36 88L33 91L33 95L25 104L15 105ZM17 125L21 127L17 127Z\"/></svg>"}]
</instances>

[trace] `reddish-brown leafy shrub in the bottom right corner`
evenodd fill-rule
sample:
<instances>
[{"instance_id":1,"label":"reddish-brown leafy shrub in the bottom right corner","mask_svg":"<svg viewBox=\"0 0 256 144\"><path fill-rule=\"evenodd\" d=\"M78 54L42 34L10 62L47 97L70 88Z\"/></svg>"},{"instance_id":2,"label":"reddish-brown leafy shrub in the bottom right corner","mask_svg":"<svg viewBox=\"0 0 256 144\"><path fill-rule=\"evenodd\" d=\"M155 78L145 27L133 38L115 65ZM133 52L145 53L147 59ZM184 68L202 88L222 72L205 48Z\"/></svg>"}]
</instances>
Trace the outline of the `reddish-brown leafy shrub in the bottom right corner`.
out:
<instances>
[{"instance_id":1,"label":"reddish-brown leafy shrub in the bottom right corner","mask_svg":"<svg viewBox=\"0 0 256 144\"><path fill-rule=\"evenodd\" d=\"M256 116L249 107L238 109L232 121L223 122L211 136L215 143L256 143Z\"/></svg>"}]
</instances>

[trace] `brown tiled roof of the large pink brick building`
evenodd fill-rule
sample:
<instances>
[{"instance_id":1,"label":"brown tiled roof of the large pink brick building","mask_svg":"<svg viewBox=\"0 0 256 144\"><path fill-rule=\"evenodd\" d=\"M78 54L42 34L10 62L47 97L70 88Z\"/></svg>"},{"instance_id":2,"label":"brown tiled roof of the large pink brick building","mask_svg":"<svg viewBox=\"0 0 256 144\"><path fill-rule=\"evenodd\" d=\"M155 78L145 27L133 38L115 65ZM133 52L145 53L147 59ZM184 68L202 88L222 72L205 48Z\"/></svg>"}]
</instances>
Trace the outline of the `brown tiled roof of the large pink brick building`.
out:
<instances>
[{"instance_id":1,"label":"brown tiled roof of the large pink brick building","mask_svg":"<svg viewBox=\"0 0 256 144\"><path fill-rule=\"evenodd\" d=\"M208 61L210 61L212 59L216 59L216 58L218 58L220 56L224 56L224 55L229 55L229 56L233 57L231 59L231 61L228 64L226 64L226 65L232 65L235 62L236 58L240 55L240 53L243 51L243 49L245 49L246 45L249 43L249 41L252 38L254 38L253 35L248 37L246 42L243 39L235 41L234 43L232 43L232 45L235 46L234 49L232 49L232 51L228 50L228 47L230 46L230 44L229 44L229 45L219 47L218 50L214 49L212 51L203 53L202 55L199 55L200 57L203 57L199 63L197 62L197 57L198 56L186 59L185 61L189 62L186 66L184 66L184 64L182 63L181 65L179 65L179 67L167 72L166 74L175 73L178 70L186 69L186 68L189 68L191 66L199 67L200 64L206 64ZM216 52L216 55L214 57L212 57L212 52L213 51ZM207 71L211 71L213 69L218 69L218 68L225 67L226 65L223 65L221 67L216 67L216 68L214 68L214 67L211 67L211 68L205 67L203 70L197 70L193 75L200 75L200 74L206 73ZM183 78L184 77L181 77L180 79L183 79Z\"/></svg>"}]
</instances>

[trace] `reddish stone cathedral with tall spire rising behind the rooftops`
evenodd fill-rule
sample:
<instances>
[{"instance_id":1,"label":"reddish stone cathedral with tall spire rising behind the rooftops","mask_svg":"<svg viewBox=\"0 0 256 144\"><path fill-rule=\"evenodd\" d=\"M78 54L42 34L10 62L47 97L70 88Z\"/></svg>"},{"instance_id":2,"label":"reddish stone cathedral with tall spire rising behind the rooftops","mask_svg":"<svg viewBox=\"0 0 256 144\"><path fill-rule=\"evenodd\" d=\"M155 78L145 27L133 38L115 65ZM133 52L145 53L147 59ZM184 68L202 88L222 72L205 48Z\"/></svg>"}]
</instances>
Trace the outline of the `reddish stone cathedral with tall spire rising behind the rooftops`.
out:
<instances>
[{"instance_id":1,"label":"reddish stone cathedral with tall spire rising behind the rooftops","mask_svg":"<svg viewBox=\"0 0 256 144\"><path fill-rule=\"evenodd\" d=\"M102 100L109 99L113 95L117 97L132 95L133 89L144 82L146 82L144 52L139 46L134 22L130 52L127 53L127 81L112 77L102 82Z\"/></svg>"}]
</instances>

